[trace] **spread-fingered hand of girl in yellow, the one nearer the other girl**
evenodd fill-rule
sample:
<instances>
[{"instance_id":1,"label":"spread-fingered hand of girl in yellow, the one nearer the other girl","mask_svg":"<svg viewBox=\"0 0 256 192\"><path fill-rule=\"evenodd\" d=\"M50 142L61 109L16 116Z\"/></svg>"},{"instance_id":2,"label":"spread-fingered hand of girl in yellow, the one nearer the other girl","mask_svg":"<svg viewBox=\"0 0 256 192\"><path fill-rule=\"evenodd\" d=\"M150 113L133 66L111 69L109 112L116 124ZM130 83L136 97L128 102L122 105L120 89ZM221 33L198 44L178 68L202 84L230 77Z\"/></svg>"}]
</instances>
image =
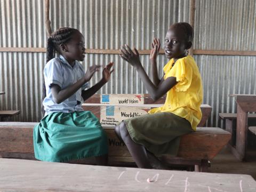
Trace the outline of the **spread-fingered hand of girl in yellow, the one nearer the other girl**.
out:
<instances>
[{"instance_id":1,"label":"spread-fingered hand of girl in yellow, the one nearer the other girl","mask_svg":"<svg viewBox=\"0 0 256 192\"><path fill-rule=\"evenodd\" d=\"M135 47L133 48L133 51L132 51L131 48L125 44L125 46L121 47L120 51L122 53L122 54L119 54L120 57L123 58L125 61L131 63L133 67L137 67L141 65L140 54L137 51L137 49L135 49Z\"/></svg>"}]
</instances>

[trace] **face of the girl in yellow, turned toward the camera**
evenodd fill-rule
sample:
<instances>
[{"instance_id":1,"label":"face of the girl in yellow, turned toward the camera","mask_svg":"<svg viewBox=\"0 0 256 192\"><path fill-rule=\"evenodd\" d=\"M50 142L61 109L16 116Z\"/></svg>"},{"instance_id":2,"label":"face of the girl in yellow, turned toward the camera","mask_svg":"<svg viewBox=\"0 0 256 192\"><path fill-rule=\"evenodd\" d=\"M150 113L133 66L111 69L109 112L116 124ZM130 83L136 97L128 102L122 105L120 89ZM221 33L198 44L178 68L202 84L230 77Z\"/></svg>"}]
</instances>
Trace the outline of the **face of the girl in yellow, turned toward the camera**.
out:
<instances>
[{"instance_id":1,"label":"face of the girl in yellow, turned toward the camera","mask_svg":"<svg viewBox=\"0 0 256 192\"><path fill-rule=\"evenodd\" d=\"M170 27L164 41L164 52L168 59L179 59L186 56L186 42L183 31Z\"/></svg>"}]
</instances>

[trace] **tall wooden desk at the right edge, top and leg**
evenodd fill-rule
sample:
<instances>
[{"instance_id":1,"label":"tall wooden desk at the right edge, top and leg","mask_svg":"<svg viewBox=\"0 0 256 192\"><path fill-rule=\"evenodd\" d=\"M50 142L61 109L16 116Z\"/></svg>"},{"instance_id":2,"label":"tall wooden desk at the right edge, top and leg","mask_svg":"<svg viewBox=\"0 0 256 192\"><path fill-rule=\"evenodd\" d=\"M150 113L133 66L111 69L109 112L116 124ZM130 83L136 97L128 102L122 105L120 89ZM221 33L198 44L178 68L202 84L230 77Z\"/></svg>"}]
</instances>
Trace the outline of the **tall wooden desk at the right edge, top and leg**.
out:
<instances>
[{"instance_id":1,"label":"tall wooden desk at the right edge, top and leg","mask_svg":"<svg viewBox=\"0 0 256 192\"><path fill-rule=\"evenodd\" d=\"M248 112L256 112L256 95L229 94L229 97L235 97L237 102L236 146L231 147L231 150L239 161L244 161L247 147Z\"/></svg>"}]
</instances>

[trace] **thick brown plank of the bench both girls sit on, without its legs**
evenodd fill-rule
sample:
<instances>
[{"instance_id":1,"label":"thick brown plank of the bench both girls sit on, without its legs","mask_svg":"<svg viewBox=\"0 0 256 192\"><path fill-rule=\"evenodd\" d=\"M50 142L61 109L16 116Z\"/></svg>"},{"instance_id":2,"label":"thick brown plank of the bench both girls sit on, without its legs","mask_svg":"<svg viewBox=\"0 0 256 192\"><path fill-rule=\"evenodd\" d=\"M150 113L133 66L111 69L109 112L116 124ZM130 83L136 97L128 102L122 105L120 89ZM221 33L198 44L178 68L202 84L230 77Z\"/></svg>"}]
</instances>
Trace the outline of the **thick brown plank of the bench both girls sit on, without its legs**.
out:
<instances>
[{"instance_id":1,"label":"thick brown plank of the bench both girls sit on, without its legs","mask_svg":"<svg viewBox=\"0 0 256 192\"><path fill-rule=\"evenodd\" d=\"M37 123L0 122L0 155L6 153L34 154L33 128ZM109 157L131 157L114 127L103 127L108 136ZM198 127L196 132L181 137L178 157L212 159L227 144L230 133L217 127ZM2 154L1 154L2 153ZM166 162L172 157L163 156ZM124 158L125 159L125 158ZM127 162L133 161L127 158ZM171 160L170 160L171 161Z\"/></svg>"}]
</instances>

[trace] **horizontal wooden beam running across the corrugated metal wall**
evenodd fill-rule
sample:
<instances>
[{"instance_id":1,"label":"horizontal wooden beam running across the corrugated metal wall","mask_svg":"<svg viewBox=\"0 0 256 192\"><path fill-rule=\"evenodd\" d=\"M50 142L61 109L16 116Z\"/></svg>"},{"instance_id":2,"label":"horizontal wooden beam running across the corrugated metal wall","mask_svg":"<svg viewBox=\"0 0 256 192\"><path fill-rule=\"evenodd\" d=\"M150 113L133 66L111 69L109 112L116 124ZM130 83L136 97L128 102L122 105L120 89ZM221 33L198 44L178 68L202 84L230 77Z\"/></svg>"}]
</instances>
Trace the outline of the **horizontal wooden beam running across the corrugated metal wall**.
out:
<instances>
[{"instance_id":1,"label":"horizontal wooden beam running across the corrugated metal wall","mask_svg":"<svg viewBox=\"0 0 256 192\"><path fill-rule=\"evenodd\" d=\"M138 50L140 54L150 54L151 50ZM45 47L0 47L0 52L46 52ZM87 54L119 54L119 50L86 49ZM164 54L161 49L159 54ZM228 51L228 50L193 50L198 55L247 55L256 56L256 51Z\"/></svg>"}]
</instances>

